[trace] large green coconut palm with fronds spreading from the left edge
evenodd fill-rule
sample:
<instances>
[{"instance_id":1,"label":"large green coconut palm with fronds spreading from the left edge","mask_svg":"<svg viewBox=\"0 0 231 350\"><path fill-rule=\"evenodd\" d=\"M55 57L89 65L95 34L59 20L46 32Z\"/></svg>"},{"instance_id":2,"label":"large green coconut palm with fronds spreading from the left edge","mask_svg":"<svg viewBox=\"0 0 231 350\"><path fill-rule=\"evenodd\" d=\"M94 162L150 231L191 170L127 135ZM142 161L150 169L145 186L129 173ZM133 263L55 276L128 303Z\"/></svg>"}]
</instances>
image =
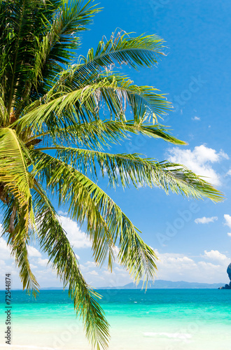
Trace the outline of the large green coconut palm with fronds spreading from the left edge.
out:
<instances>
[{"instance_id":1,"label":"large green coconut palm with fronds spreading from the left edge","mask_svg":"<svg viewBox=\"0 0 231 350\"><path fill-rule=\"evenodd\" d=\"M112 269L116 258L138 282L154 278L157 257L97 186L97 176L106 176L113 187L146 184L214 202L223 196L181 165L104 151L130 134L185 143L158 124L171 109L165 96L116 71L123 64L155 66L163 55L161 38L117 32L86 57L76 57L80 32L97 12L92 0L0 1L0 199L3 235L23 288L35 295L39 288L27 252L35 236L69 286L87 339L106 349L109 324L97 303L99 295L80 272L52 197L68 207L72 219L87 223L98 265L106 262Z\"/></svg>"}]
</instances>

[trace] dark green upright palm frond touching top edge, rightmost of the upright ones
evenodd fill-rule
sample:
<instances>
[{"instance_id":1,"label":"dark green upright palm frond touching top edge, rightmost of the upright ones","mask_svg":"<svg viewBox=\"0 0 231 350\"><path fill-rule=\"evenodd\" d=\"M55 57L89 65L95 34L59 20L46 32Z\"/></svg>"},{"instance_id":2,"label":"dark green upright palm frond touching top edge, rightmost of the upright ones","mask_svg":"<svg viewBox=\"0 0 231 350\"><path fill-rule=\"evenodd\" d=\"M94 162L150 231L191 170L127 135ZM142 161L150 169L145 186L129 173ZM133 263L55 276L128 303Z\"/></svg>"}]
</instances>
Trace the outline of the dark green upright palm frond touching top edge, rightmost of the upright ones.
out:
<instances>
[{"instance_id":1,"label":"dark green upright palm frond touching top edge, rightmost of the upright ones","mask_svg":"<svg viewBox=\"0 0 231 350\"><path fill-rule=\"evenodd\" d=\"M99 12L99 8L90 6L92 1L83 0L59 1L59 8L52 21L44 22L46 33L42 39L38 38L38 49L35 56L34 85L38 86L38 94L50 90L58 73L63 71L63 65L69 64L76 57L80 45L78 37L92 17ZM39 80L43 81L41 85Z\"/></svg>"}]
</instances>

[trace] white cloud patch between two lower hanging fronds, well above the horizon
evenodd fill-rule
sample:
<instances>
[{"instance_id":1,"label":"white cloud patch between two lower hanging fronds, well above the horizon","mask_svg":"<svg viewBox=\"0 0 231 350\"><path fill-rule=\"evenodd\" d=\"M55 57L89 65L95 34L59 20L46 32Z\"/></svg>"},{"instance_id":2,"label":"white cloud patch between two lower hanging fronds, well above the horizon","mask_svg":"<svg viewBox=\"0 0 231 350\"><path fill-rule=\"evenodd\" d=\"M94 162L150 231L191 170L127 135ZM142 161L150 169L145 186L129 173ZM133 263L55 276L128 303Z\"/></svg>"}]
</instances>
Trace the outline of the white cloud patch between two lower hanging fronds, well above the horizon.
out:
<instances>
[{"instance_id":1,"label":"white cloud patch between two lower hanging fronds, well above the horizon","mask_svg":"<svg viewBox=\"0 0 231 350\"><path fill-rule=\"evenodd\" d=\"M59 221L66 231L67 237L71 242L71 245L73 245L73 248L90 248L92 246L90 239L85 232L80 230L76 221L66 218L65 216L59 216Z\"/></svg>"}]
</instances>

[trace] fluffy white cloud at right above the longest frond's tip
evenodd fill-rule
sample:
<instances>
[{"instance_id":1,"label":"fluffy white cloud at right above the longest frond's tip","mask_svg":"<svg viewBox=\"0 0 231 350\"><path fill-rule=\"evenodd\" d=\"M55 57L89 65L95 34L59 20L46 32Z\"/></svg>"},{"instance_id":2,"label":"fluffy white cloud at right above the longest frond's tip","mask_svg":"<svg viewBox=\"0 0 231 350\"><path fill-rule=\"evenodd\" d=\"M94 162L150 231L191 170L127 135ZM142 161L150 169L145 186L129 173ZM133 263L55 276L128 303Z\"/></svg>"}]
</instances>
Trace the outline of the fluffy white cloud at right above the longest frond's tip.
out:
<instances>
[{"instance_id":1,"label":"fluffy white cloud at right above the longest frond's tip","mask_svg":"<svg viewBox=\"0 0 231 350\"><path fill-rule=\"evenodd\" d=\"M193 151L174 147L169 150L168 158L171 162L186 165L197 175L205 176L207 178L205 180L215 186L221 185L221 179L211 164L219 162L223 158L229 159L228 155L222 150L218 153L213 148L204 145L196 146Z\"/></svg>"}]
</instances>

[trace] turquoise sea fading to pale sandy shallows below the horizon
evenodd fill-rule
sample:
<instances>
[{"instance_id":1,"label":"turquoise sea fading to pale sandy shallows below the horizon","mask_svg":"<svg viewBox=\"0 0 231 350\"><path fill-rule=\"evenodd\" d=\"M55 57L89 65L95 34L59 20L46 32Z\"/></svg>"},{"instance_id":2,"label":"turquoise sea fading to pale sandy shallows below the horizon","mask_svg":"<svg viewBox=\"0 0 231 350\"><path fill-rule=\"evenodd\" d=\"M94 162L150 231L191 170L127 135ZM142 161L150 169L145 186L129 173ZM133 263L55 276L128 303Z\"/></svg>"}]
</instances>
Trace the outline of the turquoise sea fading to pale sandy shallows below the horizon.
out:
<instances>
[{"instance_id":1,"label":"turquoise sea fading to pale sandy shallows below the horizon","mask_svg":"<svg viewBox=\"0 0 231 350\"><path fill-rule=\"evenodd\" d=\"M42 290L37 300L12 292L12 346L0 349L90 350L67 292ZM111 350L231 349L231 290L99 290L111 324Z\"/></svg>"}]
</instances>

